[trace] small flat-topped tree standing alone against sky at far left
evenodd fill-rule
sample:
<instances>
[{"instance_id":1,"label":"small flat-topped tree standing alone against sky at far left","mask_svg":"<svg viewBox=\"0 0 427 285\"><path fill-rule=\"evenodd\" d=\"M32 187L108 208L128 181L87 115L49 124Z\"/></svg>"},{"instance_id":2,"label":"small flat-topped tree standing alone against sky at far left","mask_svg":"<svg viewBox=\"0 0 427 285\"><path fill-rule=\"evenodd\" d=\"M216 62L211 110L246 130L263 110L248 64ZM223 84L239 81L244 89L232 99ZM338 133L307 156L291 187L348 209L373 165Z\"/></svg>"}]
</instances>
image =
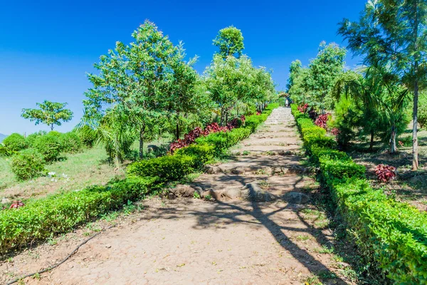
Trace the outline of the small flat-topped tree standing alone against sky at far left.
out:
<instances>
[{"instance_id":1,"label":"small flat-topped tree standing alone against sky at far left","mask_svg":"<svg viewBox=\"0 0 427 285\"><path fill-rule=\"evenodd\" d=\"M31 122L46 124L53 130L54 125L61 125L61 121L69 122L73 118L73 112L65 109L67 103L55 103L44 100L43 103L36 103L40 109L22 109L21 117L29 119Z\"/></svg>"}]
</instances>

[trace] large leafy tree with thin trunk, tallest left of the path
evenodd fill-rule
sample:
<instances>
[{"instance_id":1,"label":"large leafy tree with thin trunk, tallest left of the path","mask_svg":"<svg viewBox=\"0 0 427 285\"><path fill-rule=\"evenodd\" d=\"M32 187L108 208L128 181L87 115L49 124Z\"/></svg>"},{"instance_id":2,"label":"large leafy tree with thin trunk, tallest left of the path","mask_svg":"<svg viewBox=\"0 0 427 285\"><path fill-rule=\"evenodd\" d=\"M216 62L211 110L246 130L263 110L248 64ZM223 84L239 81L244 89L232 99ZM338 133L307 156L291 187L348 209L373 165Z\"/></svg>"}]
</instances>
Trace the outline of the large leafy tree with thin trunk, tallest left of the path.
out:
<instances>
[{"instance_id":1,"label":"large leafy tree with thin trunk, tallest left of the path","mask_svg":"<svg viewBox=\"0 0 427 285\"><path fill-rule=\"evenodd\" d=\"M138 129L142 157L148 124L166 115L175 99L168 90L174 81L173 64L181 55L150 21L139 26L132 37L130 45L117 42L115 51L110 50L95 64L100 74L88 74L93 88L85 93L83 103L89 115L105 113L105 105L121 105L111 111L125 112L117 118L127 118L126 124Z\"/></svg>"}]
</instances>

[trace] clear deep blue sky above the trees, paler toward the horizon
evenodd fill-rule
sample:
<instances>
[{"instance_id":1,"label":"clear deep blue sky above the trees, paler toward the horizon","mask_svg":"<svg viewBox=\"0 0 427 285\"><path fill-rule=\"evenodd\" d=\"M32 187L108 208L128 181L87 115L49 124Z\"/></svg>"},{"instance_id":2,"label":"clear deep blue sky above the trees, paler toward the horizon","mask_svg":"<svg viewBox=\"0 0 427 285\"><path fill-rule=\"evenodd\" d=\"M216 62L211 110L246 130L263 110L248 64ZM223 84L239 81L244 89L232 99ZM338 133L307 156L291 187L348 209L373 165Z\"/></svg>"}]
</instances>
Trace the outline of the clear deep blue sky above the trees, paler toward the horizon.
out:
<instances>
[{"instance_id":1,"label":"clear deep blue sky above the trees, paler toward the horizon","mask_svg":"<svg viewBox=\"0 0 427 285\"><path fill-rule=\"evenodd\" d=\"M358 19L366 0L352 1L4 1L0 9L0 133L48 130L21 118L36 102L67 102L74 119L82 114L83 92L90 87L99 56L145 19L154 21L174 43L184 41L188 56L200 56L199 73L210 63L219 29L234 25L245 38L244 53L256 66L273 69L278 90L288 67L299 58L307 65L320 41L342 43L337 23ZM358 62L347 56L347 66Z\"/></svg>"}]
</instances>

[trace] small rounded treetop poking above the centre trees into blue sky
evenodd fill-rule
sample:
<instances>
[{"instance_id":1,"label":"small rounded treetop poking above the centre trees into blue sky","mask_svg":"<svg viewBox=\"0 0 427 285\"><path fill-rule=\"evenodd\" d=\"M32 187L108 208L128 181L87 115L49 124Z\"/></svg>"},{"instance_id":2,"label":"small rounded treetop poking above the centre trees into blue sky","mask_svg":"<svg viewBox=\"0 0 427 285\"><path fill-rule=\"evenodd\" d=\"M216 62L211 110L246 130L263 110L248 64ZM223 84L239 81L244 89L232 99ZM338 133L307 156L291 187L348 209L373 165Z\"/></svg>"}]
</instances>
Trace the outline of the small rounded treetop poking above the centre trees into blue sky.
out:
<instances>
[{"instance_id":1,"label":"small rounded treetop poking above the centre trees into blue sky","mask_svg":"<svg viewBox=\"0 0 427 285\"><path fill-rule=\"evenodd\" d=\"M234 26L219 30L214 39L214 46L218 46L223 59L226 59L227 56L241 57L243 48L245 48L241 30Z\"/></svg>"}]
</instances>

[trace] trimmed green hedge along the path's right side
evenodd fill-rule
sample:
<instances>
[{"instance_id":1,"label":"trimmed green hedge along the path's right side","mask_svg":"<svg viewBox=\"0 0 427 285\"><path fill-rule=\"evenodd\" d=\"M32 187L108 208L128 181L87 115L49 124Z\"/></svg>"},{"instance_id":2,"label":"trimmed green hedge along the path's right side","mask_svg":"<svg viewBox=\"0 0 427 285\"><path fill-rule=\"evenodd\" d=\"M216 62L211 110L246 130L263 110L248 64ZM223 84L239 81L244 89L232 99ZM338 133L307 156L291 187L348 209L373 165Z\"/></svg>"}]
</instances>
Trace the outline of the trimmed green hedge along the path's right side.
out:
<instances>
[{"instance_id":1,"label":"trimmed green hedge along the path's right side","mask_svg":"<svg viewBox=\"0 0 427 285\"><path fill-rule=\"evenodd\" d=\"M365 167L335 150L334 138L292 105L310 159L320 167L337 209L354 233L360 254L396 284L427 284L427 213L374 190Z\"/></svg>"}]
</instances>

